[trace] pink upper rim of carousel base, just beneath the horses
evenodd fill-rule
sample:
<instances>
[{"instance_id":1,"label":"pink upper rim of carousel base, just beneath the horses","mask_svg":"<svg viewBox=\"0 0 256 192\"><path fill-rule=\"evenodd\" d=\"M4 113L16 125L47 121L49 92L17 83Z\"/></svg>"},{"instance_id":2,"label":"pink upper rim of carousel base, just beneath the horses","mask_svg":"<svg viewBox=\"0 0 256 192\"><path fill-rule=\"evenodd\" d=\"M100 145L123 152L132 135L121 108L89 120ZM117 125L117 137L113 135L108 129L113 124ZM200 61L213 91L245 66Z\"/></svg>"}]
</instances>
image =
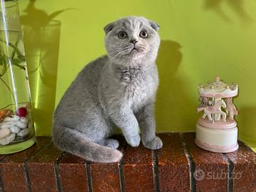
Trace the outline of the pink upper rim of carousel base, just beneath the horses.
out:
<instances>
[{"instance_id":1,"label":"pink upper rim of carousel base, just beneath the horses","mask_svg":"<svg viewBox=\"0 0 256 192\"><path fill-rule=\"evenodd\" d=\"M202 117L198 119L198 124L206 128L213 128L213 129L230 129L234 128L237 125L234 119L227 119L226 122L223 120L214 121L214 123L208 119L203 119Z\"/></svg>"}]
</instances>

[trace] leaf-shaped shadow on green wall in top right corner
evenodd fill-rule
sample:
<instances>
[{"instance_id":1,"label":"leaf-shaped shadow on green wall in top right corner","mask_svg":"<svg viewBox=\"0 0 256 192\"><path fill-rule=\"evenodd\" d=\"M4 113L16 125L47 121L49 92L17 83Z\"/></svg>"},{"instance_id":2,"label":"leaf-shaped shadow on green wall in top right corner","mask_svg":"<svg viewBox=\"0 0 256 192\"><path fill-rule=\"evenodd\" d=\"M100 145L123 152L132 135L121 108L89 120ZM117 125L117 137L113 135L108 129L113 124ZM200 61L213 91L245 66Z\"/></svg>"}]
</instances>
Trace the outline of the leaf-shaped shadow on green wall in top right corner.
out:
<instances>
[{"instance_id":1,"label":"leaf-shaped shadow on green wall in top right corner","mask_svg":"<svg viewBox=\"0 0 256 192\"><path fill-rule=\"evenodd\" d=\"M223 21L231 22L230 17L223 11L223 4L226 4L242 21L252 21L252 18L245 11L245 1L246 0L205 0L203 8L213 10Z\"/></svg>"}]
</instances>

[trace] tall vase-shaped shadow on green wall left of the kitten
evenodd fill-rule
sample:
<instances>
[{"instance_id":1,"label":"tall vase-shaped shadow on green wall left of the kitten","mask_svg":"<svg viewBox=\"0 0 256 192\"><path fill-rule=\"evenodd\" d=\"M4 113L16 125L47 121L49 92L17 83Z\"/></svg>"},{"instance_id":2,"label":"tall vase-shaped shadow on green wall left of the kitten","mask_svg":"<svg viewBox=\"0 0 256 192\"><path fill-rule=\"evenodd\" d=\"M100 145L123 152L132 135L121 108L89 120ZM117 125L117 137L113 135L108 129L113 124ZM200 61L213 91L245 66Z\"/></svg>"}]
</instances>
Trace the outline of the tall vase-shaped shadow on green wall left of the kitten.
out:
<instances>
[{"instance_id":1,"label":"tall vase-shaped shadow on green wall left of the kitten","mask_svg":"<svg viewBox=\"0 0 256 192\"><path fill-rule=\"evenodd\" d=\"M48 15L29 1L21 14L23 40L33 102L33 118L38 135L49 132L55 108L55 92L60 44L60 21L53 18L65 10Z\"/></svg>"}]
</instances>

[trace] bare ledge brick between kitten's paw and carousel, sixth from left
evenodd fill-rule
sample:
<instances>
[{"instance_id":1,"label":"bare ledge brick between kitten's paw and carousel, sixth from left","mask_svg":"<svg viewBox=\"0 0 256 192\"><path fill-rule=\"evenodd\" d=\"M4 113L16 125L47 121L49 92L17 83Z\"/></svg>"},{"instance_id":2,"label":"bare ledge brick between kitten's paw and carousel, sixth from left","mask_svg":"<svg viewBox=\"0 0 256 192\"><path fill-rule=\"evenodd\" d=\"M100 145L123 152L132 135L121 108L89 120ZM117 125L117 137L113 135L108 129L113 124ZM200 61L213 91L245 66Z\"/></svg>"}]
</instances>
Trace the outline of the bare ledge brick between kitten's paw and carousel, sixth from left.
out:
<instances>
[{"instance_id":1,"label":"bare ledge brick between kitten's paw and carousel, sixth from left","mask_svg":"<svg viewBox=\"0 0 256 192\"><path fill-rule=\"evenodd\" d=\"M190 191L189 166L181 137L159 134L163 147L156 151L159 163L159 191Z\"/></svg>"}]
</instances>

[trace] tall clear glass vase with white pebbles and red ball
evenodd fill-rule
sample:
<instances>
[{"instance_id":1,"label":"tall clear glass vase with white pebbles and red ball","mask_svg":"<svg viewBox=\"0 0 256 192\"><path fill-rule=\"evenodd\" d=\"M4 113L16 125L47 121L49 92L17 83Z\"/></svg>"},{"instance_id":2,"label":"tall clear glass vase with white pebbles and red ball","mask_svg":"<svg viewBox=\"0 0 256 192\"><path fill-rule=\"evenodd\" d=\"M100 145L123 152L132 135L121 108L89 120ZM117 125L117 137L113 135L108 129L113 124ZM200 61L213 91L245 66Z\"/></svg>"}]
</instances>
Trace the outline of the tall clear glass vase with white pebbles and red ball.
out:
<instances>
[{"instance_id":1,"label":"tall clear glass vase with white pebbles and red ball","mask_svg":"<svg viewBox=\"0 0 256 192\"><path fill-rule=\"evenodd\" d=\"M0 3L0 154L36 142L18 2Z\"/></svg>"}]
</instances>

